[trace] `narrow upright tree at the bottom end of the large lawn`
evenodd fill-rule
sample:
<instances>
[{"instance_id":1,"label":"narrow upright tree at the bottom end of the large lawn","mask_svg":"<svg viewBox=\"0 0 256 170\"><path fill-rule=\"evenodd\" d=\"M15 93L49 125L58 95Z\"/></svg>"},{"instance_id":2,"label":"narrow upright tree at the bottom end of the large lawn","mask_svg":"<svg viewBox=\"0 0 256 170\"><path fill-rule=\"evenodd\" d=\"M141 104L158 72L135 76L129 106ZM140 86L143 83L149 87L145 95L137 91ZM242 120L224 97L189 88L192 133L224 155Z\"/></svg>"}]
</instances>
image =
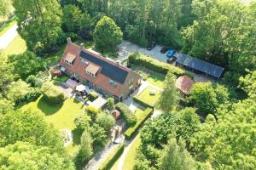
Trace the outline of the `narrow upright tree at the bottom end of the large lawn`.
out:
<instances>
[{"instance_id":1,"label":"narrow upright tree at the bottom end of the large lawn","mask_svg":"<svg viewBox=\"0 0 256 170\"><path fill-rule=\"evenodd\" d=\"M90 160L90 156L92 156L92 139L90 137L90 133L84 131L81 136L81 145L79 149L79 153L76 156L76 166L81 167L84 163Z\"/></svg>"}]
</instances>

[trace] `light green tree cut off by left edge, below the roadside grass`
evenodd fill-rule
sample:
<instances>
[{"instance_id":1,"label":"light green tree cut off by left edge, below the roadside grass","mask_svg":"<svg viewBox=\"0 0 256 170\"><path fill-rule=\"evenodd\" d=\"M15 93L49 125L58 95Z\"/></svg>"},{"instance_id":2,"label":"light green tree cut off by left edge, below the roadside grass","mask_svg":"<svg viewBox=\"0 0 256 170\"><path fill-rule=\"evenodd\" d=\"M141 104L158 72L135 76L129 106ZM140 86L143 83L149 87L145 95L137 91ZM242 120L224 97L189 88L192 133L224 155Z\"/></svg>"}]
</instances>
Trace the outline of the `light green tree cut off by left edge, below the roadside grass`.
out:
<instances>
[{"instance_id":1,"label":"light green tree cut off by left edge, below the roadside grass","mask_svg":"<svg viewBox=\"0 0 256 170\"><path fill-rule=\"evenodd\" d=\"M7 61L7 56L0 52L0 93L3 93L9 83L15 79L14 66L10 65Z\"/></svg>"}]
</instances>

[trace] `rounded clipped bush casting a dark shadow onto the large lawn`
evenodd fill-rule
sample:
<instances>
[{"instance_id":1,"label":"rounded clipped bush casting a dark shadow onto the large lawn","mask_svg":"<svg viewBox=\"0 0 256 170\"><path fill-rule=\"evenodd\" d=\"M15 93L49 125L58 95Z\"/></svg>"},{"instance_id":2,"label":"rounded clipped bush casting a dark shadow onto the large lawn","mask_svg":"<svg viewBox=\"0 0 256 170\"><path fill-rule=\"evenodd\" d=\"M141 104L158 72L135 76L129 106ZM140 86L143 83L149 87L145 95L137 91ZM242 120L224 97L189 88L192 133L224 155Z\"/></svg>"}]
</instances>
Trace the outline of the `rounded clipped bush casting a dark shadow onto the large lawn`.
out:
<instances>
[{"instance_id":1,"label":"rounded clipped bush casting a dark shadow onto the large lawn","mask_svg":"<svg viewBox=\"0 0 256 170\"><path fill-rule=\"evenodd\" d=\"M65 99L61 90L55 87L51 82L44 83L42 86L42 92L44 94L43 99L45 99L49 104L61 104Z\"/></svg>"}]
</instances>

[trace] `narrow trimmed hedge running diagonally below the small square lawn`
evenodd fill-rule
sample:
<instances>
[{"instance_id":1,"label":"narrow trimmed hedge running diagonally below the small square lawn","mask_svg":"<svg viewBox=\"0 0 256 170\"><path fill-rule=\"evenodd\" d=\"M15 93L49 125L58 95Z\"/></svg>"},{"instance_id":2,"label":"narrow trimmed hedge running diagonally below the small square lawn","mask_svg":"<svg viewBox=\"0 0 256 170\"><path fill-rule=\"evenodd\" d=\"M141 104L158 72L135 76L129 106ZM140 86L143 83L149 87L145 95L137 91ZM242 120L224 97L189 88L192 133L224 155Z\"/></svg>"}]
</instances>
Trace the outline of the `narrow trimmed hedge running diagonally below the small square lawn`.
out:
<instances>
[{"instance_id":1,"label":"narrow trimmed hedge running diagonally below the small square lawn","mask_svg":"<svg viewBox=\"0 0 256 170\"><path fill-rule=\"evenodd\" d=\"M142 127L143 122L145 122L152 113L153 113L153 109L152 108L147 108L145 111L143 111L143 115L144 115L143 119L137 120L137 123L136 123L135 126L129 127L125 131L125 139L130 140L133 136L135 136L135 134L137 133L138 129L140 127Z\"/></svg>"}]
</instances>

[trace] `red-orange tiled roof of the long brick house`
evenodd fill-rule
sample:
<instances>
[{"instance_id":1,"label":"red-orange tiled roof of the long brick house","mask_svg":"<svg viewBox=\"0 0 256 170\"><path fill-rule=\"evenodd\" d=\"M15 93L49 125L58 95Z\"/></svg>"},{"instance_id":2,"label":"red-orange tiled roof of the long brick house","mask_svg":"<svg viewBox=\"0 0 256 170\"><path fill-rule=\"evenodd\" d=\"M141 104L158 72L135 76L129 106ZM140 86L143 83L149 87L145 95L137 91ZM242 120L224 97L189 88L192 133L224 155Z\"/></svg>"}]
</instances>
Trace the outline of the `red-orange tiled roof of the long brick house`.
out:
<instances>
[{"instance_id":1,"label":"red-orange tiled roof of the long brick house","mask_svg":"<svg viewBox=\"0 0 256 170\"><path fill-rule=\"evenodd\" d=\"M114 94L116 96L119 96L121 94L121 90L124 87L123 84L118 83L117 82L117 86L113 87L109 84L109 77L106 77L105 75L103 75L101 73L101 68L99 65L95 65L90 63L90 61L87 61L86 59L83 59L79 56L80 54L80 50L83 50L85 53L88 53L98 59L102 59L106 62L108 62L111 65L115 65L115 66L119 66L119 68L125 70L125 71L130 71L128 68L125 68L123 66L120 65L116 65L113 61L110 61L108 59L103 58L102 56L98 56L96 54L91 53L90 51L81 48L79 45L73 43L73 42L69 42L67 43L67 47L64 51L64 54L61 58L60 61L60 65L67 68L68 71L74 72L76 74L78 74L79 77L82 77L83 79L89 80L90 82L93 82L94 84L96 84L97 86L103 88L104 90L108 91L111 94ZM73 54L76 56L76 58L73 61L73 65L68 65L65 62L65 57L67 56L67 54ZM82 59L86 62L82 62ZM96 67L99 68L98 73L96 74L96 77L91 77L89 74L85 73L86 68L88 67L88 65L95 65ZM118 73L117 73L118 74Z\"/></svg>"}]
</instances>

